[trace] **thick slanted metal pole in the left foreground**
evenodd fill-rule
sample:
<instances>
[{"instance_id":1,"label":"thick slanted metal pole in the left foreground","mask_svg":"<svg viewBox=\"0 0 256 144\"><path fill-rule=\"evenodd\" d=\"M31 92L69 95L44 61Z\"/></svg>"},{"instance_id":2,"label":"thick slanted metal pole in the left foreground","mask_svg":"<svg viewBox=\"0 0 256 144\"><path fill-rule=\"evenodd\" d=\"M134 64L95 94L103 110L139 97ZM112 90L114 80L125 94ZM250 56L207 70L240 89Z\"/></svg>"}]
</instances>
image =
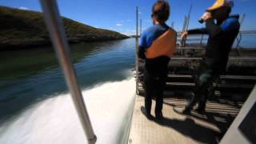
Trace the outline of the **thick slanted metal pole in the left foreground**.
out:
<instances>
[{"instance_id":1,"label":"thick slanted metal pole in the left foreground","mask_svg":"<svg viewBox=\"0 0 256 144\"><path fill-rule=\"evenodd\" d=\"M90 144L96 142L96 135L90 123L90 118L86 110L85 102L82 98L81 90L78 86L74 67L70 61L70 49L66 42L66 35L62 19L58 12L55 0L40 0L42 11L45 17L46 26L50 32L50 37L54 43L54 48L58 56L58 61L62 66L66 84L70 90L74 106L78 112L78 117L82 123L82 128Z\"/></svg>"}]
</instances>

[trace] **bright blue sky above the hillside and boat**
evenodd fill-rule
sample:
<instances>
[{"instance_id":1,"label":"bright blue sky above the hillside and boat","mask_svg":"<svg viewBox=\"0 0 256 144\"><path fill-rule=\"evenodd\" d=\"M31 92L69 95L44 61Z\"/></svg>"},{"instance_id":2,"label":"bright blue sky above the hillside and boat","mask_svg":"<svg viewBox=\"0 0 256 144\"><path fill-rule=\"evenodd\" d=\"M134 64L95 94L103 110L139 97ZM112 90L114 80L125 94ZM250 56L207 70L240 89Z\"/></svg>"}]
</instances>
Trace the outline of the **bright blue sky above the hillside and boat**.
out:
<instances>
[{"instance_id":1,"label":"bright blue sky above the hillside and boat","mask_svg":"<svg viewBox=\"0 0 256 144\"><path fill-rule=\"evenodd\" d=\"M135 7L139 7L139 18L142 18L142 29L152 25L150 19L151 6L155 0L58 0L62 16L85 23L86 25L115 30L122 34L134 34ZM189 28L202 27L198 18L215 0L169 0L170 19L176 30L182 30L184 16L193 5ZM38 0L0 0L0 6L10 6L25 10L42 11ZM232 14L246 13L242 30L256 30L256 1L234 0Z\"/></svg>"}]
</instances>

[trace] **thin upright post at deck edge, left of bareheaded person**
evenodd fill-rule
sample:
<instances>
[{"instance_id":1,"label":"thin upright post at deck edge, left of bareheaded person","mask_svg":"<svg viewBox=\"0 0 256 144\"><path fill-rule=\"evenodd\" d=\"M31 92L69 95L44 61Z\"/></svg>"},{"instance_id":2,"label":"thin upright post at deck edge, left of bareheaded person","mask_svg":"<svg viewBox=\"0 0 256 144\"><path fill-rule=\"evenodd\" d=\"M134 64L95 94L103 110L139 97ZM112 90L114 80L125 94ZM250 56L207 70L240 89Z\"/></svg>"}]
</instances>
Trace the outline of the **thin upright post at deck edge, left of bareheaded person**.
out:
<instances>
[{"instance_id":1,"label":"thin upright post at deck edge, left of bareheaded person","mask_svg":"<svg viewBox=\"0 0 256 144\"><path fill-rule=\"evenodd\" d=\"M136 6L136 48L135 48L135 69L136 69L136 94L138 94L138 6Z\"/></svg>"}]
</instances>

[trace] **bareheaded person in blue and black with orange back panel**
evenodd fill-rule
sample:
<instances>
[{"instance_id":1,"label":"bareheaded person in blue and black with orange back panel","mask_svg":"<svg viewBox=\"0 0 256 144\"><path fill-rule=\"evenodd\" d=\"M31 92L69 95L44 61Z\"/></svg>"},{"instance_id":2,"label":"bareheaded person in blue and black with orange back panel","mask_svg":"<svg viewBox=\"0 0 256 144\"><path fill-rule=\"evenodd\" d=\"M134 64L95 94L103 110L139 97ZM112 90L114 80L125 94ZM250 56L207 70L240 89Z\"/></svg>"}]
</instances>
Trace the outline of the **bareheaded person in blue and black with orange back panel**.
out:
<instances>
[{"instance_id":1,"label":"bareheaded person in blue and black with orange back panel","mask_svg":"<svg viewBox=\"0 0 256 144\"><path fill-rule=\"evenodd\" d=\"M155 116L162 118L163 90L166 85L167 66L176 48L176 32L166 25L170 15L168 2L158 0L152 7L154 26L143 31L138 57L145 59L143 86L145 89L145 111L150 114L152 98L156 97Z\"/></svg>"}]
</instances>

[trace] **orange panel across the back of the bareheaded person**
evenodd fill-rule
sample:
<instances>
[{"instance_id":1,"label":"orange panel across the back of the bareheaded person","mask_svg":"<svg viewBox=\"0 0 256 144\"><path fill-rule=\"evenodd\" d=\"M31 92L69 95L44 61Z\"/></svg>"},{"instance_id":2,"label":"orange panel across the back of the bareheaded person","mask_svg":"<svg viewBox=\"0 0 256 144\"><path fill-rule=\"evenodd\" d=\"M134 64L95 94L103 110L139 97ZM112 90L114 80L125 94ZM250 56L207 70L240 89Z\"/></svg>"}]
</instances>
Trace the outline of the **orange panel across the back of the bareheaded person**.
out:
<instances>
[{"instance_id":1,"label":"orange panel across the back of the bareheaded person","mask_svg":"<svg viewBox=\"0 0 256 144\"><path fill-rule=\"evenodd\" d=\"M146 58L171 57L176 50L176 39L177 33L175 30L166 30L164 34L155 39L151 46L146 49Z\"/></svg>"}]
</instances>

